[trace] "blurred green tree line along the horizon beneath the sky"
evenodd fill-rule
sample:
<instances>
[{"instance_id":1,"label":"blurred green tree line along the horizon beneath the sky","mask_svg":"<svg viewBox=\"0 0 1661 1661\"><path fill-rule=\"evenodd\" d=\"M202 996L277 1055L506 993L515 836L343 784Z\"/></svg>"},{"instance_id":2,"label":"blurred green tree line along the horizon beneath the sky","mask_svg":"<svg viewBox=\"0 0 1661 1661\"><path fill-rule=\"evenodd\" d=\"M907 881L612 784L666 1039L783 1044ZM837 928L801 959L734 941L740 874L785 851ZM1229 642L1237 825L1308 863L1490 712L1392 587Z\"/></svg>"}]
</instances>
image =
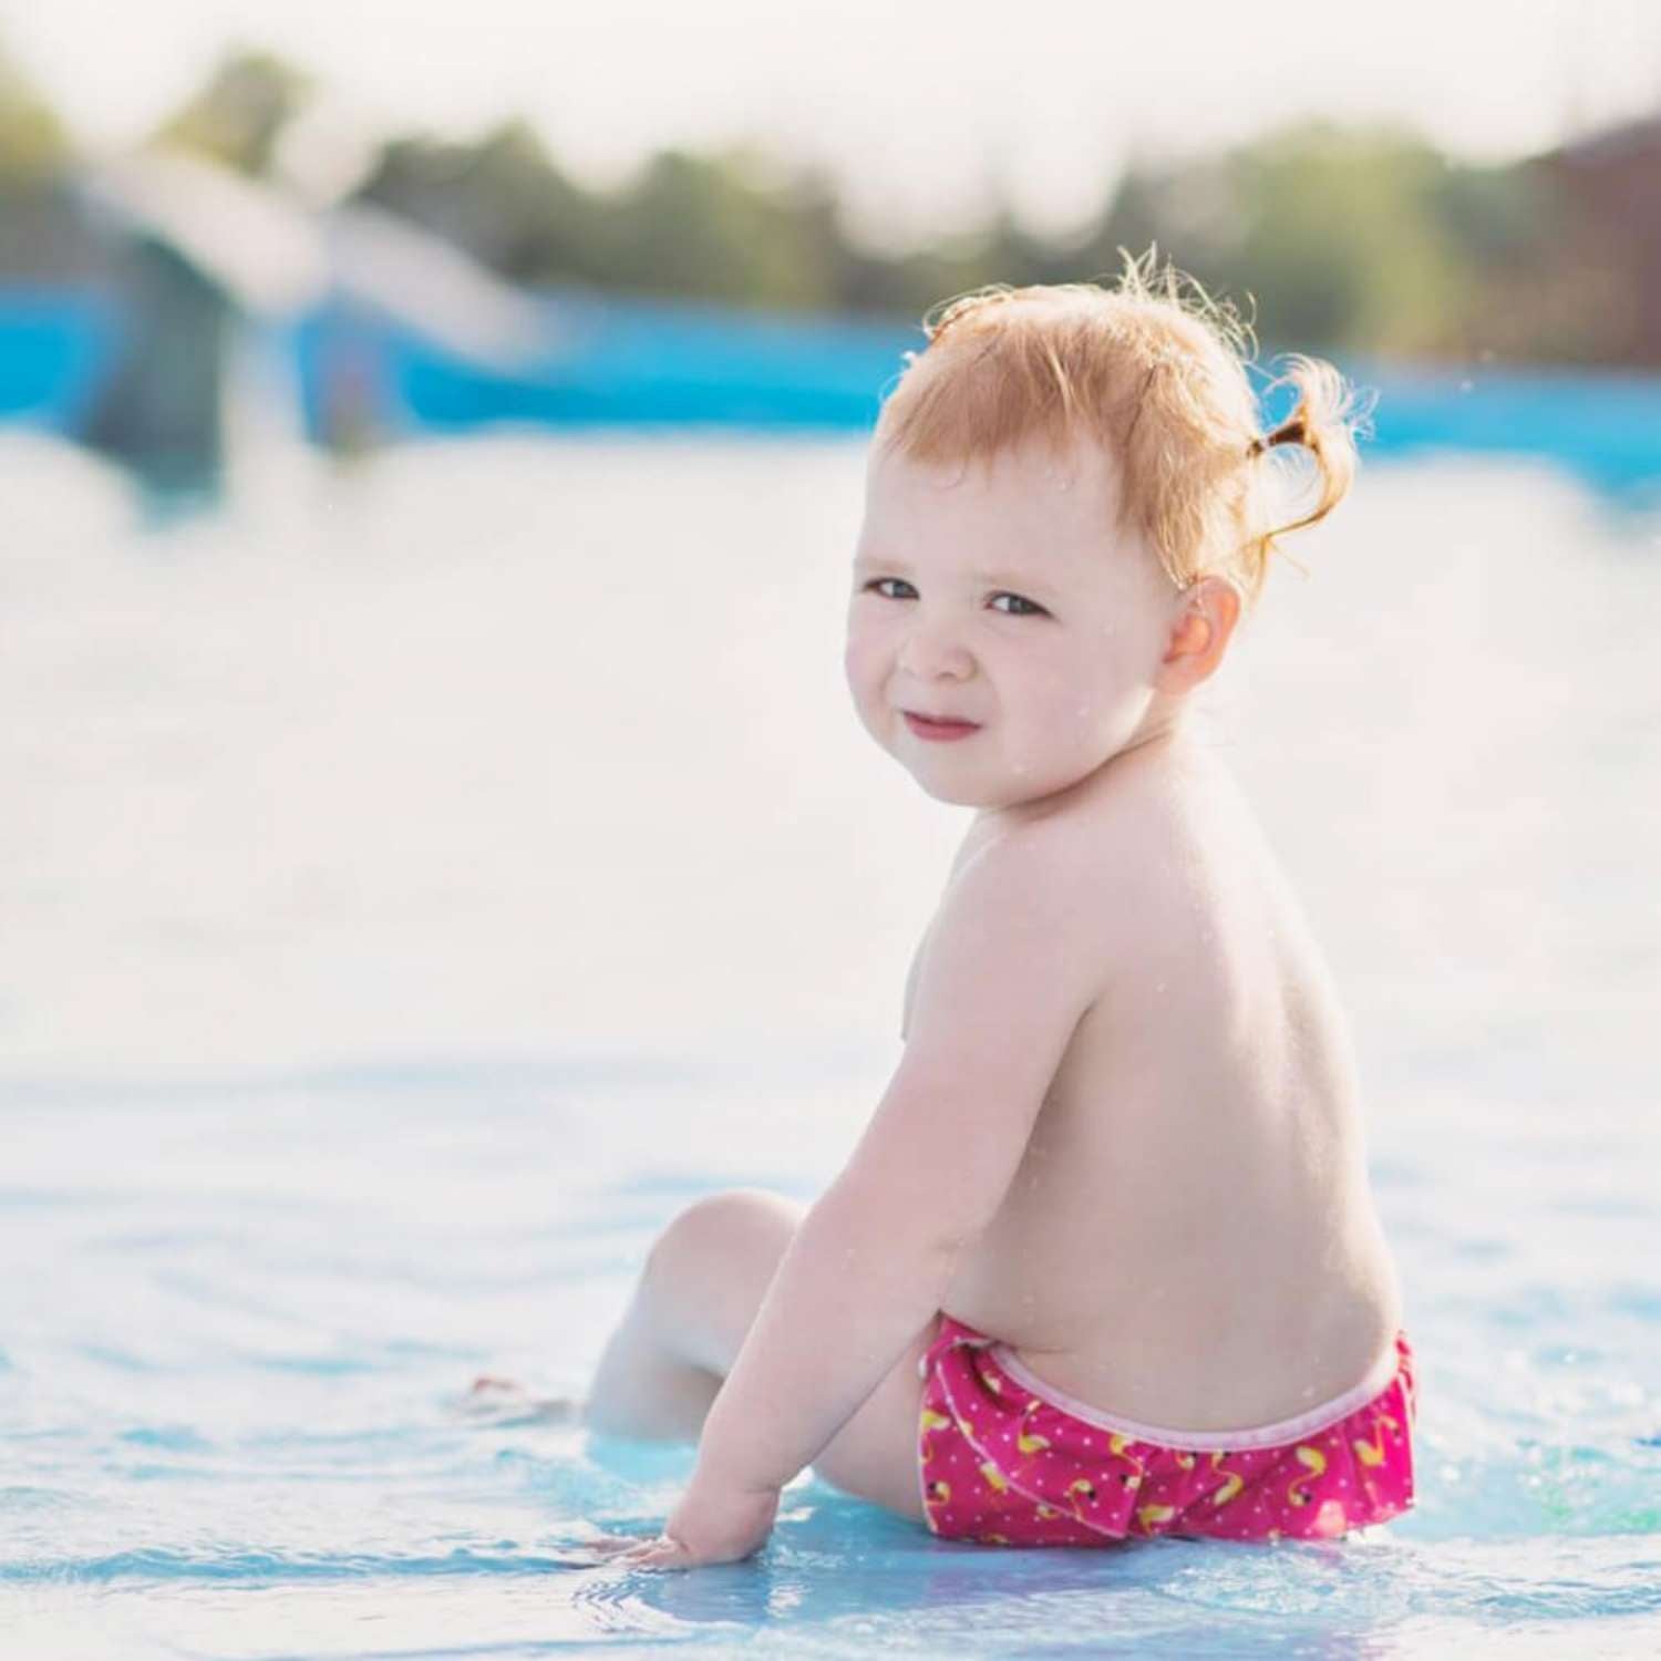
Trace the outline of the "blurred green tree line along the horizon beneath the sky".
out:
<instances>
[{"instance_id":1,"label":"blurred green tree line along the horizon beneath the sky","mask_svg":"<svg viewBox=\"0 0 1661 1661\"><path fill-rule=\"evenodd\" d=\"M239 53L156 141L281 176L281 136L312 95L292 65ZM1651 143L1661 149L1661 136ZM45 100L0 56L0 281L63 271L53 216L75 159ZM850 239L821 168L754 146L671 148L621 186L591 189L523 120L472 141L392 138L354 194L530 286L917 319L983 282L1110 276L1121 246L1158 243L1234 297L1271 350L1661 362L1644 301L1661 153L1638 174L1656 183L1639 186L1649 194L1636 231L1631 203L1605 206L1600 221L1573 163L1553 151L1470 166L1404 128L1316 121L1199 159L1136 158L1066 239L1030 233L1005 204L973 233L907 252Z\"/></svg>"}]
</instances>

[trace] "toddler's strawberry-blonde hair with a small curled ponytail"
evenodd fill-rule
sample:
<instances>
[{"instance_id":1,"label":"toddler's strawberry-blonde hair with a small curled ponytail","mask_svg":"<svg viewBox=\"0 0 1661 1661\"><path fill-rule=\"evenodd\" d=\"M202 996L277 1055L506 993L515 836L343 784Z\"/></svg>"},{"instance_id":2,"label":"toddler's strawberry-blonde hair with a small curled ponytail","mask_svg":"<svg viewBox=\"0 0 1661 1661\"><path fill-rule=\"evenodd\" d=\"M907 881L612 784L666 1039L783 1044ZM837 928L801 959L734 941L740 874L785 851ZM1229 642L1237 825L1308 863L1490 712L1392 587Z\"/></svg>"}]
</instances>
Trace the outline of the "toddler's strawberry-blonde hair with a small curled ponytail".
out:
<instances>
[{"instance_id":1,"label":"toddler's strawberry-blonde hair with a small curled ponytail","mask_svg":"<svg viewBox=\"0 0 1661 1661\"><path fill-rule=\"evenodd\" d=\"M1251 608L1277 538L1325 518L1349 492L1365 412L1330 364L1287 354L1266 390L1289 384L1297 402L1261 432L1246 377L1251 326L1174 266L1156 271L1156 246L1141 259L1120 254L1113 287L995 282L930 307L928 345L907 354L875 442L917 462L990 462L1035 437L1056 450L1076 437L1103 442L1120 462L1120 528L1148 540L1176 588L1222 573ZM1289 473L1271 457L1266 478L1261 462L1279 445L1302 447L1319 485L1287 523L1274 520Z\"/></svg>"}]
</instances>

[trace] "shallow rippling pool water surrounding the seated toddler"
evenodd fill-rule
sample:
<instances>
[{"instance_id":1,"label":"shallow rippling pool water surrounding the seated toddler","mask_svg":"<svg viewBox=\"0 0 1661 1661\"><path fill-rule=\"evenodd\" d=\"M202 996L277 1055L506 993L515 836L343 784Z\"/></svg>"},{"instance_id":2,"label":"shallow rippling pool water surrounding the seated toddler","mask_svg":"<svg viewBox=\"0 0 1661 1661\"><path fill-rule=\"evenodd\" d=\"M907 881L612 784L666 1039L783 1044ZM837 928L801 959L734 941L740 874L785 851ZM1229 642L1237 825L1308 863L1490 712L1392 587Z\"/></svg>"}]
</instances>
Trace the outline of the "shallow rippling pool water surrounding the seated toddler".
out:
<instances>
[{"instance_id":1,"label":"shallow rippling pool water surrounding the seated toddler","mask_svg":"<svg viewBox=\"0 0 1661 1661\"><path fill-rule=\"evenodd\" d=\"M1000 1551L802 1477L646 1575L585 1541L691 1448L460 1404L580 1392L658 1227L811 1199L899 1055L963 816L844 706L857 448L435 447L141 532L8 443L0 1653L1661 1649L1661 527L1377 468L1209 718L1355 1028L1417 1510Z\"/></svg>"}]
</instances>

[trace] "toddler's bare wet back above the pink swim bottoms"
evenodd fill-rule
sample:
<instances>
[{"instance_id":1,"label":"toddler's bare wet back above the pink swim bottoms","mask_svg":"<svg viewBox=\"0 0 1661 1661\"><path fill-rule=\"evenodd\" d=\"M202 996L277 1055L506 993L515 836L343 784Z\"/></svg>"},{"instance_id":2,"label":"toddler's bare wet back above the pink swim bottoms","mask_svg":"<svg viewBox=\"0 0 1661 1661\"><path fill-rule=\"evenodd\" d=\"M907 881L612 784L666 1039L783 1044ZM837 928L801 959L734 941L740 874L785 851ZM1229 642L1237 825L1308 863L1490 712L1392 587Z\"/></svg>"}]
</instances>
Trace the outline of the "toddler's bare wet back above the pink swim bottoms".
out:
<instances>
[{"instance_id":1,"label":"toddler's bare wet back above the pink swim bottoms","mask_svg":"<svg viewBox=\"0 0 1661 1661\"><path fill-rule=\"evenodd\" d=\"M1101 993L942 1307L1108 1414L1292 1417L1364 1379L1400 1319L1330 973L1203 747L1126 754L1065 812Z\"/></svg>"}]
</instances>

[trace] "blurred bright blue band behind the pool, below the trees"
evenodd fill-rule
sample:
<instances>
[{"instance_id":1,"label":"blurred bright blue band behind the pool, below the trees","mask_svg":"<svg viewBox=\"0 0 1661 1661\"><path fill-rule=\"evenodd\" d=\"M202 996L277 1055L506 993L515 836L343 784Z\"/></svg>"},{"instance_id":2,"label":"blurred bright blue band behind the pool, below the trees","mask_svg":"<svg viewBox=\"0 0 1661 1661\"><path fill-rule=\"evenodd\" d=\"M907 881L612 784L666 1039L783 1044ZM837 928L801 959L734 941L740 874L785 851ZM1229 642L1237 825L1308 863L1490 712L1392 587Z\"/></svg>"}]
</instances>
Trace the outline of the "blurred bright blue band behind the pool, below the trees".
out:
<instances>
[{"instance_id":1,"label":"blurred bright blue band behind the pool, below the trees","mask_svg":"<svg viewBox=\"0 0 1661 1661\"><path fill-rule=\"evenodd\" d=\"M292 369L304 430L342 422L375 440L493 424L860 432L924 345L904 321L736 311L590 291L538 297L546 344L510 369L445 347L370 307L331 299L287 324L251 324ZM121 307L95 291L0 291L0 419L68 437L123 342ZM1276 367L1272 354L1266 367ZM1502 365L1342 362L1374 389L1365 452L1462 452L1555 462L1613 495L1661 495L1661 377ZM1267 380L1267 375L1262 377ZM1266 395L1266 420L1291 390Z\"/></svg>"}]
</instances>

